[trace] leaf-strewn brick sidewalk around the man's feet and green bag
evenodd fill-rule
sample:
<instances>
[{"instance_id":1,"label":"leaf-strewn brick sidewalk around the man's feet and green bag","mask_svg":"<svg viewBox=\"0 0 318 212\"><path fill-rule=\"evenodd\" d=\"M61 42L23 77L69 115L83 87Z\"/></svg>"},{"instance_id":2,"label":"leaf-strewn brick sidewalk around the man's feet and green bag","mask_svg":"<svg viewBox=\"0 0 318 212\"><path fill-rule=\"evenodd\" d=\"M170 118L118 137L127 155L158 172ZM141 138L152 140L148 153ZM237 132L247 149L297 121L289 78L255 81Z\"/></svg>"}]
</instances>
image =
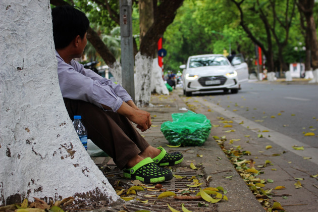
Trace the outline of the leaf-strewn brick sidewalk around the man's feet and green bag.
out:
<instances>
[{"instance_id":1,"label":"leaf-strewn brick sidewalk around the man's feet and green bag","mask_svg":"<svg viewBox=\"0 0 318 212\"><path fill-rule=\"evenodd\" d=\"M150 210L150 211L170 211L167 206L169 203L173 208L182 211L181 203L191 211L264 211L261 204L256 200L255 196L249 190L246 183L235 170L231 162L228 160L225 153L212 137L212 133L202 146L184 146L178 148L168 147L169 144L163 133L161 132L161 124L165 121L172 121L171 114L183 113L188 109L185 102L179 96L182 95L182 89L177 88L170 93L170 95L151 95L152 107L144 108L148 111L152 118L152 127L145 132L141 132L144 138L152 146L163 146L168 152L181 151L184 155L184 161L176 166L172 166L173 174L179 176L186 176L184 179L173 178L169 182L163 182L163 188L174 191L190 188L195 191L191 195L195 195L201 187L219 187L222 186L227 190L226 196L228 201L221 200L218 203L208 203L201 200L176 200L173 197L166 197L157 199L157 196L163 191L138 191L134 200L126 201L125 207L129 211L136 210ZM216 116L216 115L215 115ZM215 117L216 119L216 117ZM212 129L213 130L213 129ZM198 155L202 155L199 157ZM122 171L116 169L116 166L110 160L110 157L92 157L95 164L100 167L101 171L107 176L110 183L116 184L121 182L123 187L131 187L133 184L131 180L125 179L122 176ZM198 170L190 168L193 164ZM188 181L192 176L196 176L202 185L200 187L188 187L186 184L192 182ZM232 176L231 178L226 178ZM207 179L209 177L209 179ZM150 185L149 185L150 186ZM145 197L144 195L154 194L155 197ZM149 200L147 203L142 203L136 199ZM198 202L208 204L207 207L199 207ZM118 211L125 209L123 205L112 206L107 211ZM105 211L101 209L99 211Z\"/></svg>"}]
</instances>

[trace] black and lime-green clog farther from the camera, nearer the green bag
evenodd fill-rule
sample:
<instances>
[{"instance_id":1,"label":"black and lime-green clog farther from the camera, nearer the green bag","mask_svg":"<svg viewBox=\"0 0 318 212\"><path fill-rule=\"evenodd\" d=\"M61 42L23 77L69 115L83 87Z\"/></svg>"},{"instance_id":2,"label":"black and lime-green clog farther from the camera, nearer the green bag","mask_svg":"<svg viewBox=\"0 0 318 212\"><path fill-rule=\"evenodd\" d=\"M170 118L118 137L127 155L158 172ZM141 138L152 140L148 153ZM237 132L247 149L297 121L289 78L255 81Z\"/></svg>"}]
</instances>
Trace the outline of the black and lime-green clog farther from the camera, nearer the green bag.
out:
<instances>
[{"instance_id":1,"label":"black and lime-green clog farther from the camera, nearer the green bag","mask_svg":"<svg viewBox=\"0 0 318 212\"><path fill-rule=\"evenodd\" d=\"M161 152L156 157L152 158L152 161L158 166L171 166L180 164L183 161L183 155L181 152L168 153L163 147L157 147Z\"/></svg>"}]
</instances>

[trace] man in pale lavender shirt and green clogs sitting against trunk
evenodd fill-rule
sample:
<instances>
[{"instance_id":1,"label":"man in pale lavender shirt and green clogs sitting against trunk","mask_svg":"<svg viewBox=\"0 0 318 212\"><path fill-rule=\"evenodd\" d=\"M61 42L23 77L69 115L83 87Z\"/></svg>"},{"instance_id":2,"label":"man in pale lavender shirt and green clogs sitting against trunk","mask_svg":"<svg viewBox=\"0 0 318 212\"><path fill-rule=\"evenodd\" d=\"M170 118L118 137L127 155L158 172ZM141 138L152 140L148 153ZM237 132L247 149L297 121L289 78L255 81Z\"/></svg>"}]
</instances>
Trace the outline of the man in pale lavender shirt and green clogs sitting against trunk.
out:
<instances>
[{"instance_id":1,"label":"man in pale lavender shirt and green clogs sitting against trunk","mask_svg":"<svg viewBox=\"0 0 318 212\"><path fill-rule=\"evenodd\" d=\"M82 116L88 137L124 169L124 177L147 183L171 180L171 171L160 166L179 164L183 155L150 146L131 124L149 129L150 114L121 85L73 60L82 57L87 42L85 14L71 6L56 7L52 23L59 83L70 118Z\"/></svg>"}]
</instances>

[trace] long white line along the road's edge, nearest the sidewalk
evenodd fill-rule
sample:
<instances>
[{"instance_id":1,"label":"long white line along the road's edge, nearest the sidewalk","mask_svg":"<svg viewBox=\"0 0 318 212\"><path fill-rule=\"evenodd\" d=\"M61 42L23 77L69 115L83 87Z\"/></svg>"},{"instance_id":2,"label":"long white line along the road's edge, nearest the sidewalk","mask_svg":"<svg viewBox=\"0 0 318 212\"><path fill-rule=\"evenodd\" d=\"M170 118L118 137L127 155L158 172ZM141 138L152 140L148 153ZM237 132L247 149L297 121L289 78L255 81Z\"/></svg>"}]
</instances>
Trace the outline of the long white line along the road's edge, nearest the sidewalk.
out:
<instances>
[{"instance_id":1,"label":"long white line along the road's edge, nearest the sidewalk","mask_svg":"<svg viewBox=\"0 0 318 212\"><path fill-rule=\"evenodd\" d=\"M197 97L192 97L192 98L195 100L198 100L198 101L201 100L200 98L197 98ZM209 107L209 109L216 111L216 112L222 114L223 116L233 120L236 123L242 123L242 121L243 121L243 124L241 124L241 126L245 127L246 129L249 129L250 131L253 131L257 134L259 133L258 132L259 129L269 130L270 132L262 132L261 134L264 137L266 137L267 139L276 143L277 145L280 145L281 147L287 149L288 151L294 152L295 154L298 154L301 157L311 157L310 162L318 165L317 148L310 148L310 146L308 146L307 144L302 143L294 138L291 138L287 135L276 132L273 129L269 129L269 128L264 127L260 124L257 124L249 119L246 119L240 115L237 115L234 112L231 112L228 110L225 111L224 108L221 108L214 103L207 102L207 101L200 101L200 103L202 103L206 107ZM247 127L249 127L249 128L247 128ZM268 135L271 135L271 137L268 137ZM304 146L304 150L295 150L293 148L293 146Z\"/></svg>"}]
</instances>

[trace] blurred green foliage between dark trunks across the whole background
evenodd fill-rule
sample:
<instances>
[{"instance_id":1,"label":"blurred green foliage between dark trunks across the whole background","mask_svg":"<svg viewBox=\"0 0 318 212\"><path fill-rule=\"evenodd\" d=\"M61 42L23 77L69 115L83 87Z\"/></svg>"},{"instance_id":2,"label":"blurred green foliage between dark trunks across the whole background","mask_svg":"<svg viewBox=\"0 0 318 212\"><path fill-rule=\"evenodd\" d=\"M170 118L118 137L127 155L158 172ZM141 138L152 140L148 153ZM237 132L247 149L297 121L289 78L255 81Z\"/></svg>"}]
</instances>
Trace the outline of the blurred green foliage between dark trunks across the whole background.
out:
<instances>
[{"instance_id":1,"label":"blurred green foliage between dark trunks across the whole background","mask_svg":"<svg viewBox=\"0 0 318 212\"><path fill-rule=\"evenodd\" d=\"M120 60L120 28L118 23L112 20L107 9L98 4L98 0L67 0L71 5L80 8L88 16L91 27L98 33L108 46L115 58ZM277 17L275 18L270 2L274 2ZM304 30L301 28L300 13L294 0L245 0L241 5L244 22L253 36L268 47L266 28L260 19L260 12L265 11L268 22L275 26L275 33L282 42L285 39L286 30L279 24L286 17L291 20L289 37L283 48L284 62L304 62L305 45ZM119 13L119 1L107 0L109 7ZM133 1L133 35L139 46L139 14L138 4ZM160 4L160 0L157 1ZM318 6L315 3L315 23L318 22ZM250 70L254 68L255 44L247 36L240 25L240 13L233 0L185 0L177 11L174 22L170 24L163 36L163 48L168 52L164 59L166 71L177 73L179 66L186 63L191 55L223 54L224 51L243 54ZM281 69L278 58L278 47L274 36L273 44L275 71ZM297 47L297 48L295 48ZM87 44L85 53L90 61L102 59L98 56L92 45ZM102 63L103 64L103 63Z\"/></svg>"}]
</instances>

